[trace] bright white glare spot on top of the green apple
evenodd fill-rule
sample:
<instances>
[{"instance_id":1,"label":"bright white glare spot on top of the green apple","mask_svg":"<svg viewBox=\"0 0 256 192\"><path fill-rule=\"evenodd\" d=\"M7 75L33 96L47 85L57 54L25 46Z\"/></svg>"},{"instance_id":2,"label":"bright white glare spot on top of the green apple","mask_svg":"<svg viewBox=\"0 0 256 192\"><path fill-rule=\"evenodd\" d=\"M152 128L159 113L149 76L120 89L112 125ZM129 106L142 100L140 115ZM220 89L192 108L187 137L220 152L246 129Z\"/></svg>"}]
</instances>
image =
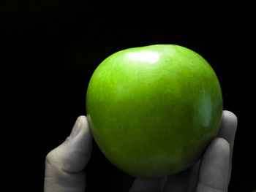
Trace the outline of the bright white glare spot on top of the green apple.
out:
<instances>
[{"instance_id":1,"label":"bright white glare spot on top of the green apple","mask_svg":"<svg viewBox=\"0 0 256 192\"><path fill-rule=\"evenodd\" d=\"M159 53L153 51L140 51L134 53L127 53L127 58L135 61L146 61L150 64L154 64L159 61Z\"/></svg>"}]
</instances>

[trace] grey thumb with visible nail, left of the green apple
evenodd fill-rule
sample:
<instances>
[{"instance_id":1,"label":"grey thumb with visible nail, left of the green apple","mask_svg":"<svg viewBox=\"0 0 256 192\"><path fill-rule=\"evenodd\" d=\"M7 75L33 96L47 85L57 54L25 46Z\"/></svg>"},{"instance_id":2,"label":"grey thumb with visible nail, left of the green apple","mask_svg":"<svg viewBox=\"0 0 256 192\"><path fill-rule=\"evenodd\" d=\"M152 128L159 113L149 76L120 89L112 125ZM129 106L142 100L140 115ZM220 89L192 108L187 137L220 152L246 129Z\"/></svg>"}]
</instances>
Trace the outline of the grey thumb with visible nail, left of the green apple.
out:
<instances>
[{"instance_id":1,"label":"grey thumb with visible nail, left of the green apple","mask_svg":"<svg viewBox=\"0 0 256 192\"><path fill-rule=\"evenodd\" d=\"M67 139L45 160L45 192L84 191L83 171L91 157L92 136L86 116L80 116Z\"/></svg>"}]
</instances>

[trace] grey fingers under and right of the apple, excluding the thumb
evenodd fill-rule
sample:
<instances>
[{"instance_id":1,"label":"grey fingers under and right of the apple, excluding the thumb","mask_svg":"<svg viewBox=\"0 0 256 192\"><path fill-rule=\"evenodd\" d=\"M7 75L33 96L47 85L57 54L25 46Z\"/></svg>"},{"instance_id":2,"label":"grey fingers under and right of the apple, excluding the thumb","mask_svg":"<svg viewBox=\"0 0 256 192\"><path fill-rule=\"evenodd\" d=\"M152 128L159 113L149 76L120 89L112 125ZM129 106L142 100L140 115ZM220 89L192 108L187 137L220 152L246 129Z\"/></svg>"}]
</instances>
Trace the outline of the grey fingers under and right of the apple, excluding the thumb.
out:
<instances>
[{"instance_id":1,"label":"grey fingers under and right of the apple, excluding the thumb","mask_svg":"<svg viewBox=\"0 0 256 192\"><path fill-rule=\"evenodd\" d=\"M167 177L137 177L129 192L226 192L230 182L236 127L236 115L223 111L217 138L195 165Z\"/></svg>"}]
</instances>

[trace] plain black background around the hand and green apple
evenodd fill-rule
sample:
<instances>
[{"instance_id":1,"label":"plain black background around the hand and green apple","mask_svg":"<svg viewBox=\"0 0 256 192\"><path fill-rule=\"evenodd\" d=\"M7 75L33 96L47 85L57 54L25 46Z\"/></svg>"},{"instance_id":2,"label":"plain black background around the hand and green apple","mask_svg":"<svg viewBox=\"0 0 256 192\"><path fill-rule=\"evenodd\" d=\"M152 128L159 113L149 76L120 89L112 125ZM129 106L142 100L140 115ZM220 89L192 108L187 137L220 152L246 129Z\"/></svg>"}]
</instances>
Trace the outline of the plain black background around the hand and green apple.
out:
<instances>
[{"instance_id":1,"label":"plain black background around the hand and green apple","mask_svg":"<svg viewBox=\"0 0 256 192\"><path fill-rule=\"evenodd\" d=\"M100 62L118 50L154 44L188 47L211 64L224 109L238 116L229 189L256 188L252 12L67 0L15 1L1 9L7 66L1 77L8 74L3 102L10 106L8 127L15 125L10 143L18 144L8 161L21 169L12 177L19 188L42 191L45 156L66 139L76 118L86 115L87 85ZM86 172L87 191L128 191L134 179L111 165L95 143Z\"/></svg>"}]
</instances>

